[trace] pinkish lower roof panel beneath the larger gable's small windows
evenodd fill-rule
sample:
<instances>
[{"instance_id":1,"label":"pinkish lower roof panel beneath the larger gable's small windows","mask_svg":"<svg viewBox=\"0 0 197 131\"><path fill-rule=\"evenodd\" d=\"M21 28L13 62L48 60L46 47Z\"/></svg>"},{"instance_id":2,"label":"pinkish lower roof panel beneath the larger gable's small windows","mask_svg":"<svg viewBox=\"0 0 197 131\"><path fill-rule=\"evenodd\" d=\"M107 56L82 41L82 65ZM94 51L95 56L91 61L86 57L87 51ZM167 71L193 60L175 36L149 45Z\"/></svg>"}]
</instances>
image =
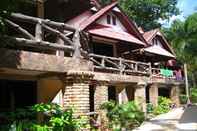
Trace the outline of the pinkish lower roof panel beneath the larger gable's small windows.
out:
<instances>
[{"instance_id":1,"label":"pinkish lower roof panel beneath the larger gable's small windows","mask_svg":"<svg viewBox=\"0 0 197 131\"><path fill-rule=\"evenodd\" d=\"M137 39L135 36L123 32L123 31L115 31L111 27L106 26L97 26L96 28L89 29L88 32L93 35L112 38L116 40L122 40L126 42L136 43L142 46L145 46L145 43Z\"/></svg>"}]
</instances>

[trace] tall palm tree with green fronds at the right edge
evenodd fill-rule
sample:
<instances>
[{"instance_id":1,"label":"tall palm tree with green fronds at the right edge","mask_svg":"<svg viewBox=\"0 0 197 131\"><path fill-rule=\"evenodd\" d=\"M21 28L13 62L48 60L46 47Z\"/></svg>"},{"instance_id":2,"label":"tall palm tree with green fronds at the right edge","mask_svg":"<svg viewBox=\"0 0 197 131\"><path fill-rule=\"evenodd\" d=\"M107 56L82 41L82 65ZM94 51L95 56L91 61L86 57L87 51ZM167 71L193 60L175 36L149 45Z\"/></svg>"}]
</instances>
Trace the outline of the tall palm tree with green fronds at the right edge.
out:
<instances>
[{"instance_id":1,"label":"tall palm tree with green fronds at the right edge","mask_svg":"<svg viewBox=\"0 0 197 131\"><path fill-rule=\"evenodd\" d=\"M193 76L195 83L197 69L197 13L192 14L185 21L175 20L170 28L164 30L164 33L171 42L177 59L181 63L185 63L185 67L188 65L189 74ZM186 90L188 90L187 82Z\"/></svg>"}]
</instances>

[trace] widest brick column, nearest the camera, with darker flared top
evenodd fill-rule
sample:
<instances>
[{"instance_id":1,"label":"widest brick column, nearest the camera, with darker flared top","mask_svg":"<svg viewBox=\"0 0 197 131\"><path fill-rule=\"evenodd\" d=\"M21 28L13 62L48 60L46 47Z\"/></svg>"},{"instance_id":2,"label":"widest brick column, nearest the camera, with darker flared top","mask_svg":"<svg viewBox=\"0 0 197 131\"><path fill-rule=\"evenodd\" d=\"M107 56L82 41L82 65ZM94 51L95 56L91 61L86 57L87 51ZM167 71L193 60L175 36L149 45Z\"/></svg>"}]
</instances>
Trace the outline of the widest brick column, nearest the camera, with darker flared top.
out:
<instances>
[{"instance_id":1,"label":"widest brick column, nearest the camera, with darker flared top","mask_svg":"<svg viewBox=\"0 0 197 131\"><path fill-rule=\"evenodd\" d=\"M73 107L75 114L85 114L90 110L89 82L92 74L69 73L64 89L64 108Z\"/></svg>"}]
</instances>

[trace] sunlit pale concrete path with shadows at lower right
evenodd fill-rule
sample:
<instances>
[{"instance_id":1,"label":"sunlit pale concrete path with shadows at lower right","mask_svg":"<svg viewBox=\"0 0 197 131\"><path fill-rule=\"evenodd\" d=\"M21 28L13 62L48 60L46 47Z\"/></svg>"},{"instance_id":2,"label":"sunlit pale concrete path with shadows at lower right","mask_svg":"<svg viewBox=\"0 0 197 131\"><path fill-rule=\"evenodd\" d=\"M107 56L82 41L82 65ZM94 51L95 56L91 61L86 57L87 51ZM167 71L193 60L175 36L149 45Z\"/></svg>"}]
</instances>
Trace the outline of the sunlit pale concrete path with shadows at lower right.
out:
<instances>
[{"instance_id":1,"label":"sunlit pale concrete path with shadows at lower right","mask_svg":"<svg viewBox=\"0 0 197 131\"><path fill-rule=\"evenodd\" d=\"M148 122L134 131L197 131L197 106L173 109Z\"/></svg>"}]
</instances>

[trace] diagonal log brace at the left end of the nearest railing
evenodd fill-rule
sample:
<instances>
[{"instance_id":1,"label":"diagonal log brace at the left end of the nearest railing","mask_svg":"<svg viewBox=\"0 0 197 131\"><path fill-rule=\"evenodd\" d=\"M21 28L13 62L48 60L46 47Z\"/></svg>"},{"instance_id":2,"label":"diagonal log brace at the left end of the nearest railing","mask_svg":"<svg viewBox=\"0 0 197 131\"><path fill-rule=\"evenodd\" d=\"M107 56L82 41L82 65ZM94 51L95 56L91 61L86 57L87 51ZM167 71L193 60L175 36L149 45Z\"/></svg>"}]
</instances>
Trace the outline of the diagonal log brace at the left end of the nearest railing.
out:
<instances>
[{"instance_id":1,"label":"diagonal log brace at the left end of the nearest railing","mask_svg":"<svg viewBox=\"0 0 197 131\"><path fill-rule=\"evenodd\" d=\"M14 28L17 32L22 33L25 38L27 39L35 39L33 35L31 35L27 30L23 29L21 26L17 25L16 23L5 19L6 23L8 23L12 28Z\"/></svg>"}]
</instances>

